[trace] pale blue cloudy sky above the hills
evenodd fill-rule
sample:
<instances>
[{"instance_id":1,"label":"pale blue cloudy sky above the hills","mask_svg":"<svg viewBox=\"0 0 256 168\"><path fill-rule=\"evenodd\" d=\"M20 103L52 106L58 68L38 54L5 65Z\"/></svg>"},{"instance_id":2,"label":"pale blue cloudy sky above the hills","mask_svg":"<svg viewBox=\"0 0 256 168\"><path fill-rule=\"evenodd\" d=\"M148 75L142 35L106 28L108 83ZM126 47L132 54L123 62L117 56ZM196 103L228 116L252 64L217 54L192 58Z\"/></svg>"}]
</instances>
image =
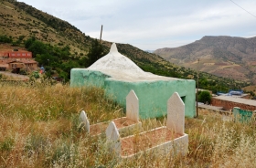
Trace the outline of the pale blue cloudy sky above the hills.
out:
<instances>
[{"instance_id":1,"label":"pale blue cloudy sky above the hills","mask_svg":"<svg viewBox=\"0 0 256 168\"><path fill-rule=\"evenodd\" d=\"M256 37L256 1L20 0L90 37L141 49L179 47L204 36Z\"/></svg>"}]
</instances>

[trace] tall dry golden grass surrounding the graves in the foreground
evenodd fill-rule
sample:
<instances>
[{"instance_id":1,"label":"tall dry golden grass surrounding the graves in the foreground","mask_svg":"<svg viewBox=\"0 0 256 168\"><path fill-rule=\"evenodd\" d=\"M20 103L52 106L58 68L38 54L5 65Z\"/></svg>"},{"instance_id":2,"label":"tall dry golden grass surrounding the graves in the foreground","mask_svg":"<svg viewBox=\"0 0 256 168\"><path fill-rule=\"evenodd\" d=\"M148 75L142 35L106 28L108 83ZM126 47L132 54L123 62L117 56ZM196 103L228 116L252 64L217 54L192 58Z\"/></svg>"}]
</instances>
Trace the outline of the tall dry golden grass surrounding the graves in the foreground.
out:
<instances>
[{"instance_id":1,"label":"tall dry golden grass surrounding the graves in the foreground","mask_svg":"<svg viewBox=\"0 0 256 168\"><path fill-rule=\"evenodd\" d=\"M105 100L102 89L69 86L0 86L0 167L255 167L255 121L222 121L200 110L186 119L186 156L148 153L119 161L104 138L78 129L80 110L92 123L123 116L121 107ZM165 119L143 121L144 130Z\"/></svg>"}]
</instances>

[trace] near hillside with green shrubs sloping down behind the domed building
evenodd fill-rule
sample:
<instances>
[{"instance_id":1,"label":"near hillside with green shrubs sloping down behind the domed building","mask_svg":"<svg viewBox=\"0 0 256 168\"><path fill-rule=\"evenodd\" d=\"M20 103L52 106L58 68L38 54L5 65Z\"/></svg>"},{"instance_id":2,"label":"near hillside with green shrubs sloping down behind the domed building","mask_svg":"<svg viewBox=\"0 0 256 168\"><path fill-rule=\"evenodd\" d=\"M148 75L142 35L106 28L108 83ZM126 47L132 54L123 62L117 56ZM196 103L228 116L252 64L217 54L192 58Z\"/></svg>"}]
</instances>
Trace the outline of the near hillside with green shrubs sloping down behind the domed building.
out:
<instances>
[{"instance_id":1,"label":"near hillside with green shrubs sloping down behind the domed building","mask_svg":"<svg viewBox=\"0 0 256 168\"><path fill-rule=\"evenodd\" d=\"M25 3L3 0L0 3L0 23L0 49L6 45L27 48L33 52L39 65L50 71L49 75L68 81L71 68L88 66L87 56L95 39L66 21ZM111 45L111 42L103 40L103 52L109 52ZM168 77L197 79L195 70L178 67L153 53L129 44L117 44L117 47L120 53L131 58L145 71ZM199 74L199 87L214 92L240 89L247 85L249 83L244 81L219 78L208 73Z\"/></svg>"}]
</instances>

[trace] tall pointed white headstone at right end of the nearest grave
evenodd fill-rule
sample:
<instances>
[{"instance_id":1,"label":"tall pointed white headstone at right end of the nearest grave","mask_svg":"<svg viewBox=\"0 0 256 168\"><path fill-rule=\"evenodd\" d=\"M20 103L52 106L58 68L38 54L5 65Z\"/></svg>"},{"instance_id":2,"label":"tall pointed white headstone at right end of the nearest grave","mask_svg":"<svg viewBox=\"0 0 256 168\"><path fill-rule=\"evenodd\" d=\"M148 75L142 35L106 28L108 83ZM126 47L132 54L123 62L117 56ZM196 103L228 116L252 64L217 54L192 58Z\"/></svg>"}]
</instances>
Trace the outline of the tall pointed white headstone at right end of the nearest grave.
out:
<instances>
[{"instance_id":1,"label":"tall pointed white headstone at right end of the nearest grave","mask_svg":"<svg viewBox=\"0 0 256 168\"><path fill-rule=\"evenodd\" d=\"M175 92L167 101L167 124L166 127L176 133L184 134L185 104Z\"/></svg>"}]
</instances>

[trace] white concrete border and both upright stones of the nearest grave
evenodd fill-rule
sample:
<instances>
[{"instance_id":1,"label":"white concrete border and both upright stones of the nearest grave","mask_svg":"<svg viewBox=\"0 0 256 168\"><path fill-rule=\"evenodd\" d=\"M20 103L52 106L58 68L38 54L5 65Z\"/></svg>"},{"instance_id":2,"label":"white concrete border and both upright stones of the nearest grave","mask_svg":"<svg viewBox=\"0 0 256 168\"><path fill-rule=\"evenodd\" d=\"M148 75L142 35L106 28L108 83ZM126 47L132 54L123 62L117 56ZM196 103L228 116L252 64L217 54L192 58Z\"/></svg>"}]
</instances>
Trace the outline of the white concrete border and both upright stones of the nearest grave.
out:
<instances>
[{"instance_id":1,"label":"white concrete border and both upright stones of the nearest grave","mask_svg":"<svg viewBox=\"0 0 256 168\"><path fill-rule=\"evenodd\" d=\"M167 154L168 152L176 152L185 155L188 150L188 135L184 133L184 121L185 121L185 104L180 99L177 92L175 92L171 98L167 101L168 111L167 111L167 123L166 126L159 127L150 131L156 131L162 128L167 128L169 130L175 131L176 133L181 134L180 137L171 140L169 142L164 142L162 144L156 145L152 148L146 149L145 151L136 152L130 155L122 155L121 144L125 139L134 137L134 135L121 138L119 132L114 125L114 122L110 123L108 129L106 131L107 141L112 142L111 145L112 151L116 152L116 154L122 159L129 159L135 155L144 154L144 152L159 152L157 154ZM181 106L181 107L179 107ZM142 135L149 131L141 132L139 135ZM114 135L114 136L113 136Z\"/></svg>"}]
</instances>

